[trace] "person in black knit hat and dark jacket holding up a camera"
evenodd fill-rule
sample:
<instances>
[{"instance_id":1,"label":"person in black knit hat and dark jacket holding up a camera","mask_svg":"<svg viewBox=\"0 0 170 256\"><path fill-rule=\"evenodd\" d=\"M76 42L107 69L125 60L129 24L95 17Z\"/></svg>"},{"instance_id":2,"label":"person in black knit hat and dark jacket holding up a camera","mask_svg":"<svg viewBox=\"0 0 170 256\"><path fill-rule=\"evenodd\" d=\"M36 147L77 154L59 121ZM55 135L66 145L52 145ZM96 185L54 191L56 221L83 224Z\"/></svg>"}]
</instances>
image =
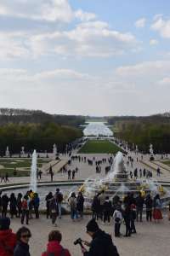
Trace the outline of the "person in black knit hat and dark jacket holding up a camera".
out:
<instances>
[{"instance_id":1,"label":"person in black knit hat and dark jacket holding up a camera","mask_svg":"<svg viewBox=\"0 0 170 256\"><path fill-rule=\"evenodd\" d=\"M84 256L119 256L111 236L99 229L99 225L94 218L88 222L86 228L88 235L92 237L92 241L89 243L89 251L82 248Z\"/></svg>"}]
</instances>

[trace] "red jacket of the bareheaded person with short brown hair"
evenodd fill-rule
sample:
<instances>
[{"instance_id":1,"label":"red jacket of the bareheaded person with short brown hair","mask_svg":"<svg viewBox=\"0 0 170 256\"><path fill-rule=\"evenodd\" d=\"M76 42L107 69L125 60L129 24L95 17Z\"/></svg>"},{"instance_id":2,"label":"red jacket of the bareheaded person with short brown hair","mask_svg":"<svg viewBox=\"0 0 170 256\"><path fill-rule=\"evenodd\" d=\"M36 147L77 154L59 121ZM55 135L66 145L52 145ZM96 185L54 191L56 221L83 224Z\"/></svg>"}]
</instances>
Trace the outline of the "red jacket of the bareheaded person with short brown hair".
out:
<instances>
[{"instance_id":1,"label":"red jacket of the bareheaded person with short brown hair","mask_svg":"<svg viewBox=\"0 0 170 256\"><path fill-rule=\"evenodd\" d=\"M50 253L53 253L52 255L54 256L71 256L71 253L67 249L64 249L64 253L62 253L63 249L59 241L49 241L47 251L42 253L42 256L48 256Z\"/></svg>"}]
</instances>

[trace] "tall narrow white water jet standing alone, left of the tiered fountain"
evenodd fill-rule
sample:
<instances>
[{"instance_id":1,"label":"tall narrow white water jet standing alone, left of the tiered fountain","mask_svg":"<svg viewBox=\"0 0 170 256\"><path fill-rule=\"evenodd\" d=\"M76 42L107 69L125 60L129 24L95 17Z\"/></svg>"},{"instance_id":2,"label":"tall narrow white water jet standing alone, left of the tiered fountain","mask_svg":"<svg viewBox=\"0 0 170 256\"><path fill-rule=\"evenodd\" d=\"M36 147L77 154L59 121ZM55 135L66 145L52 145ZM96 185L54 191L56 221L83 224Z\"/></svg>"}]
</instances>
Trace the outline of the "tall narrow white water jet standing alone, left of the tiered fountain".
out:
<instances>
[{"instance_id":1,"label":"tall narrow white water jet standing alone, left of the tiered fountain","mask_svg":"<svg viewBox=\"0 0 170 256\"><path fill-rule=\"evenodd\" d=\"M32 154L30 189L37 192L37 153L35 149Z\"/></svg>"}]
</instances>

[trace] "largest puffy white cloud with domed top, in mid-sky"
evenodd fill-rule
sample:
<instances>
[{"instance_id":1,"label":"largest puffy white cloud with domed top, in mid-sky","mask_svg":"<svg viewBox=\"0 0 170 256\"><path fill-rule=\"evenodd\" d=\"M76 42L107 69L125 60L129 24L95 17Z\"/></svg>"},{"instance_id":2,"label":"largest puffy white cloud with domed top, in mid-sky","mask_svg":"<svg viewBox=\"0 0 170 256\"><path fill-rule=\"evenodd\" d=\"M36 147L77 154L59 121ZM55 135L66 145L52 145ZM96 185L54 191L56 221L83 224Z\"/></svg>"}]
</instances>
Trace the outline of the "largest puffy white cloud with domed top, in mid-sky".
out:
<instances>
[{"instance_id":1,"label":"largest puffy white cloud with domed top, in mid-sky","mask_svg":"<svg viewBox=\"0 0 170 256\"><path fill-rule=\"evenodd\" d=\"M70 31L49 32L31 36L33 55L110 57L133 52L138 42L131 33L113 31L100 20L82 22Z\"/></svg>"}]
</instances>

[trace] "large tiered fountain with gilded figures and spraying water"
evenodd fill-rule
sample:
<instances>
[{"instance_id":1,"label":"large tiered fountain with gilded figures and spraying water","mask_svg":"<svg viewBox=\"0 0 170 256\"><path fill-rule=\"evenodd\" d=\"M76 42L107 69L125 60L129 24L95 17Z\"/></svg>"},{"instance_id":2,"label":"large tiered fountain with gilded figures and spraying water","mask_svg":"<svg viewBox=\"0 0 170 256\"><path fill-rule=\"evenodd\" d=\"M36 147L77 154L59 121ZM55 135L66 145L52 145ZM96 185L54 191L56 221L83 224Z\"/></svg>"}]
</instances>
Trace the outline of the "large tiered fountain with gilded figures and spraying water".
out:
<instances>
[{"instance_id":1,"label":"large tiered fountain with gilded figures and spraying water","mask_svg":"<svg viewBox=\"0 0 170 256\"><path fill-rule=\"evenodd\" d=\"M111 172L106 177L94 180L88 179L79 190L82 191L88 202L89 198L92 201L94 195L98 194L101 190L105 190L105 195L108 195L110 198L114 198L116 195L123 198L127 195L127 192L133 192L134 195L141 192L142 195L147 195L148 193L151 193L153 196L160 194L164 204L170 201L169 193L155 180L146 179L141 181L129 179L121 152L116 154L114 163L111 166Z\"/></svg>"}]
</instances>

